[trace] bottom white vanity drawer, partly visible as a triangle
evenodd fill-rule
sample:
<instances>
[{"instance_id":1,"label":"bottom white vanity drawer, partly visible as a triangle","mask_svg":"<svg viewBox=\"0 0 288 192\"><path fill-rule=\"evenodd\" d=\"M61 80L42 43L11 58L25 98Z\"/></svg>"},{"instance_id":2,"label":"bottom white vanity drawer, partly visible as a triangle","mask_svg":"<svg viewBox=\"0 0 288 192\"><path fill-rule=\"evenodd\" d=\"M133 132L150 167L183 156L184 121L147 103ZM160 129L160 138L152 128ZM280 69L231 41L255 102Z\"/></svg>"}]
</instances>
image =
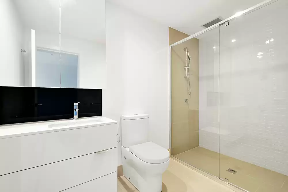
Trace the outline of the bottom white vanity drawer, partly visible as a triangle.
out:
<instances>
[{"instance_id":1,"label":"bottom white vanity drawer, partly visible as a triangle","mask_svg":"<svg viewBox=\"0 0 288 192\"><path fill-rule=\"evenodd\" d=\"M117 192L117 172L77 185L64 192Z\"/></svg>"}]
</instances>

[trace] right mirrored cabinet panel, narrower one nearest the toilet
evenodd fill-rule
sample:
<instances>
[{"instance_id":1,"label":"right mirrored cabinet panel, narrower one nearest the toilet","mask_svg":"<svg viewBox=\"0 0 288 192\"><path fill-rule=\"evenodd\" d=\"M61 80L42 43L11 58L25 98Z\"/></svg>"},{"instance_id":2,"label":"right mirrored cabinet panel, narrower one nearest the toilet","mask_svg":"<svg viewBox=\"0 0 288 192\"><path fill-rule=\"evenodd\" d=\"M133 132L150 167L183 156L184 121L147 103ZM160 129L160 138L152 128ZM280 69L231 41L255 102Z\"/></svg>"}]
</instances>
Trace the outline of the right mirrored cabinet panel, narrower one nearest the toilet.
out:
<instances>
[{"instance_id":1,"label":"right mirrored cabinet panel, narrower one nearest the toilet","mask_svg":"<svg viewBox=\"0 0 288 192\"><path fill-rule=\"evenodd\" d=\"M106 88L105 0L61 0L61 87Z\"/></svg>"}]
</instances>

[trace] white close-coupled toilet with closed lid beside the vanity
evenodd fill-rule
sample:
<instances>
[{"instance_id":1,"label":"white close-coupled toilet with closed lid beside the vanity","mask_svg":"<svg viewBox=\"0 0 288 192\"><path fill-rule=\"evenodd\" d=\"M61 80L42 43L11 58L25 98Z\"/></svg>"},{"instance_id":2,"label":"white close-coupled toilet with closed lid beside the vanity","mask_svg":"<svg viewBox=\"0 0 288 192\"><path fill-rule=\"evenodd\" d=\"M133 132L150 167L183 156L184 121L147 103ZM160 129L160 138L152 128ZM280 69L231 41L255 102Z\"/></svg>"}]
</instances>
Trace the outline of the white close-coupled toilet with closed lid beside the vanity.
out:
<instances>
[{"instance_id":1,"label":"white close-coupled toilet with closed lid beside the vanity","mask_svg":"<svg viewBox=\"0 0 288 192\"><path fill-rule=\"evenodd\" d=\"M148 142L148 115L123 115L121 141L124 176L140 192L162 191L162 174L168 168L170 154Z\"/></svg>"}]
</instances>

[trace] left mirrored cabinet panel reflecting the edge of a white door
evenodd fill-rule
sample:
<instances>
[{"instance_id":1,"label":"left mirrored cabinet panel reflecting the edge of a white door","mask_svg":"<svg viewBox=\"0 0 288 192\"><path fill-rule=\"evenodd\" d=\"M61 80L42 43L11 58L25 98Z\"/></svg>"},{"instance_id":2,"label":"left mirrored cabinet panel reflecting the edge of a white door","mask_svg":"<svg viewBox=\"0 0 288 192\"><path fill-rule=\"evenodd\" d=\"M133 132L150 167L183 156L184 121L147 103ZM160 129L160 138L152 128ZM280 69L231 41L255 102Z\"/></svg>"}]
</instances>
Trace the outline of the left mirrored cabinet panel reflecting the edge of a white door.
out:
<instances>
[{"instance_id":1,"label":"left mirrored cabinet panel reflecting the edge of a white door","mask_svg":"<svg viewBox=\"0 0 288 192\"><path fill-rule=\"evenodd\" d=\"M0 86L60 87L59 3L1 0ZM58 55L49 57L49 51L58 51Z\"/></svg>"}]
</instances>

